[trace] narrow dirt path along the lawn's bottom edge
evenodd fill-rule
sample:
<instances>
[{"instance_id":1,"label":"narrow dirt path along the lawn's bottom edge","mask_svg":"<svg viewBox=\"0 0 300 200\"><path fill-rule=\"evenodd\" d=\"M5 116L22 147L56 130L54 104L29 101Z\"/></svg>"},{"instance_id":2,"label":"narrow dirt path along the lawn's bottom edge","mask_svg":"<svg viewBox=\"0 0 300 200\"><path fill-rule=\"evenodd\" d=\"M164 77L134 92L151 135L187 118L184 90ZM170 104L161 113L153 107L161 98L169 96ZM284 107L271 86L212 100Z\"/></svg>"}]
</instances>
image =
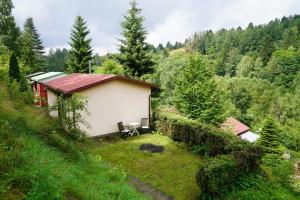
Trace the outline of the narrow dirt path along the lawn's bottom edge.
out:
<instances>
[{"instance_id":1,"label":"narrow dirt path along the lawn's bottom edge","mask_svg":"<svg viewBox=\"0 0 300 200\"><path fill-rule=\"evenodd\" d=\"M157 188L140 181L138 178L129 176L129 183L138 191L151 197L153 200L173 200L174 198L166 195Z\"/></svg>"}]
</instances>

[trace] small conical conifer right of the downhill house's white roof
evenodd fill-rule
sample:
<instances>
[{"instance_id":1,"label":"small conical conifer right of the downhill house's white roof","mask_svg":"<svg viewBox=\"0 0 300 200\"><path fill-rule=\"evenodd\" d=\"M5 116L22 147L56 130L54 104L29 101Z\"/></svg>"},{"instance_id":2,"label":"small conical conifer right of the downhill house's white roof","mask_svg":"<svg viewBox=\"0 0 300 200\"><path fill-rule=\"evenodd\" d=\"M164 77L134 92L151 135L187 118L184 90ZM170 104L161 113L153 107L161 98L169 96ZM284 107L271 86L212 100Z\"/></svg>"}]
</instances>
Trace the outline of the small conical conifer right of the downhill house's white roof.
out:
<instances>
[{"instance_id":1,"label":"small conical conifer right of the downhill house's white roof","mask_svg":"<svg viewBox=\"0 0 300 200\"><path fill-rule=\"evenodd\" d=\"M276 148L279 146L279 128L274 119L267 118L263 124L259 143L266 147Z\"/></svg>"}]
</instances>

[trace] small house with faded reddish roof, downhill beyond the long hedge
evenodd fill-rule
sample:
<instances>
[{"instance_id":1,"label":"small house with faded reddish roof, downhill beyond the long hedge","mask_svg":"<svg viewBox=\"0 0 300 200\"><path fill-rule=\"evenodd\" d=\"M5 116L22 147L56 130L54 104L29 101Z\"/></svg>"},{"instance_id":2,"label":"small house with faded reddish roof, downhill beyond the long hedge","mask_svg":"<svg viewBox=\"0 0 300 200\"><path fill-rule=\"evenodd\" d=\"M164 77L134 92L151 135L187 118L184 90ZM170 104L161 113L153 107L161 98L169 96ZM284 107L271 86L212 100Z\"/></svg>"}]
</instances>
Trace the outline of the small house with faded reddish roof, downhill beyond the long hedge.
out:
<instances>
[{"instance_id":1,"label":"small house with faded reddish roof, downhill beyond the long hedge","mask_svg":"<svg viewBox=\"0 0 300 200\"><path fill-rule=\"evenodd\" d=\"M225 122L221 124L221 129L230 130L236 136L239 136L241 139L249 142L255 142L259 138L259 135L251 132L247 125L233 117L228 117Z\"/></svg>"}]
</instances>

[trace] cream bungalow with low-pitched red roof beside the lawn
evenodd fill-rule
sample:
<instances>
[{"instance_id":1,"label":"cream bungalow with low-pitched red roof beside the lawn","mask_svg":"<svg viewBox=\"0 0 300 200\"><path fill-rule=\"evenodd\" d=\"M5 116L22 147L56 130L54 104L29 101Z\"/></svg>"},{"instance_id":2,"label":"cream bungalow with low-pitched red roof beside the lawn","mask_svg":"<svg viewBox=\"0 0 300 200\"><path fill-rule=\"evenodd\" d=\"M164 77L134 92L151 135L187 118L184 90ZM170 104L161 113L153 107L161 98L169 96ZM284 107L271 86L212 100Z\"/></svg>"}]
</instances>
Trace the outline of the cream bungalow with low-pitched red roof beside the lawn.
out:
<instances>
[{"instance_id":1,"label":"cream bungalow with low-pitched red roof beside the lawn","mask_svg":"<svg viewBox=\"0 0 300 200\"><path fill-rule=\"evenodd\" d=\"M49 106L55 104L58 95L79 93L87 99L89 115L84 117L89 128L81 128L89 136L118 132L120 121L126 125L140 122L141 118L150 119L150 95L155 86L144 81L107 74L71 74L43 84L47 87Z\"/></svg>"}]
</instances>

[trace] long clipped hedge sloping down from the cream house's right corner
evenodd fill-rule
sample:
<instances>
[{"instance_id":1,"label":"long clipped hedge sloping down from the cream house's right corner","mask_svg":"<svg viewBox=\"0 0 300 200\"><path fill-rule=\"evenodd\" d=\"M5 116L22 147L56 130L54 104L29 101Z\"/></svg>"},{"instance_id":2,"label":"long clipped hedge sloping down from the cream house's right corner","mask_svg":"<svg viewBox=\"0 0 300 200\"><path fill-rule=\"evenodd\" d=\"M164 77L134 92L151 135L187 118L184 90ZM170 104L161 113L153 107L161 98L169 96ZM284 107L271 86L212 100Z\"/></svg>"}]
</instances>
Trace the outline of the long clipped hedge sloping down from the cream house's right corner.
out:
<instances>
[{"instance_id":1,"label":"long clipped hedge sloping down from the cream house's right corner","mask_svg":"<svg viewBox=\"0 0 300 200\"><path fill-rule=\"evenodd\" d=\"M185 142L208 156L229 154L249 146L248 142L231 133L165 110L157 113L156 127L174 141Z\"/></svg>"}]
</instances>

